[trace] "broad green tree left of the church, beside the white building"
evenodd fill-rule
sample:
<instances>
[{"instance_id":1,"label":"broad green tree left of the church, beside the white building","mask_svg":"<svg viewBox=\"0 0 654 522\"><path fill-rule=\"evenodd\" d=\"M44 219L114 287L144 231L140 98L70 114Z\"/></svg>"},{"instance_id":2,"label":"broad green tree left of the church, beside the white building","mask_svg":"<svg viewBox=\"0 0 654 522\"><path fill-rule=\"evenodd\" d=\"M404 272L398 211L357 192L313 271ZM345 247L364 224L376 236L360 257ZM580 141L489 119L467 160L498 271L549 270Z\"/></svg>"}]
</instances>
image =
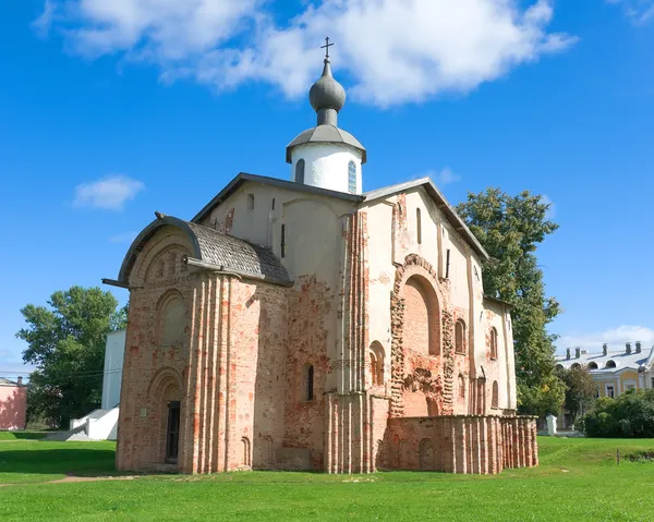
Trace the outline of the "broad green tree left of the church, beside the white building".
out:
<instances>
[{"instance_id":1,"label":"broad green tree left of the church, beside the white building","mask_svg":"<svg viewBox=\"0 0 654 522\"><path fill-rule=\"evenodd\" d=\"M48 306L28 304L21 313L27 328L23 361L29 375L29 417L64 427L71 418L98 408L101 399L107 333L124 328L126 307L99 288L72 287L55 292Z\"/></svg>"}]
</instances>

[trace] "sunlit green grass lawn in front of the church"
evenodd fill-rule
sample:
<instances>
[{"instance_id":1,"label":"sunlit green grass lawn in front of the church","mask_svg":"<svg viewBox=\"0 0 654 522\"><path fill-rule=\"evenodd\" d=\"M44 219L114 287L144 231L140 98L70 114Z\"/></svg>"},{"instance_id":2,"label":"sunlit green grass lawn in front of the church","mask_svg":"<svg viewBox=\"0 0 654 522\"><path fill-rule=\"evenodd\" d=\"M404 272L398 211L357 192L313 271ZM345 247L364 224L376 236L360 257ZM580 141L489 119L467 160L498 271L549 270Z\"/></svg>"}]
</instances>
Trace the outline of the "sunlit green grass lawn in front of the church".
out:
<instances>
[{"instance_id":1,"label":"sunlit green grass lawn in front of the church","mask_svg":"<svg viewBox=\"0 0 654 522\"><path fill-rule=\"evenodd\" d=\"M496 476L242 472L45 484L113 474L111 442L0 445L1 521L652 521L654 439L538 439L541 466ZM622 461L616 465L616 449Z\"/></svg>"}]
</instances>

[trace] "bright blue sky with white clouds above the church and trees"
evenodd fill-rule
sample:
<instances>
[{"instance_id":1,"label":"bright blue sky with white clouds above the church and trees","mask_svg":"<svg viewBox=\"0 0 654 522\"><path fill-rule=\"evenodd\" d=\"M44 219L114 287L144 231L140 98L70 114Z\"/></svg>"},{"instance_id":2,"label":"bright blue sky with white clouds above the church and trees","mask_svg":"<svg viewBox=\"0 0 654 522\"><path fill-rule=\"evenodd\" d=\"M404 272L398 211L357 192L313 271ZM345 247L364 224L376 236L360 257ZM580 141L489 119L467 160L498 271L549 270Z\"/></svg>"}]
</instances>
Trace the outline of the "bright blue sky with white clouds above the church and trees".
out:
<instances>
[{"instance_id":1,"label":"bright blue sky with white clouds above the church and trees","mask_svg":"<svg viewBox=\"0 0 654 522\"><path fill-rule=\"evenodd\" d=\"M654 344L654 0L2 0L0 376L21 308L116 278L154 211L288 179L325 35L364 190L543 194L557 345ZM121 302L126 291L111 290Z\"/></svg>"}]
</instances>

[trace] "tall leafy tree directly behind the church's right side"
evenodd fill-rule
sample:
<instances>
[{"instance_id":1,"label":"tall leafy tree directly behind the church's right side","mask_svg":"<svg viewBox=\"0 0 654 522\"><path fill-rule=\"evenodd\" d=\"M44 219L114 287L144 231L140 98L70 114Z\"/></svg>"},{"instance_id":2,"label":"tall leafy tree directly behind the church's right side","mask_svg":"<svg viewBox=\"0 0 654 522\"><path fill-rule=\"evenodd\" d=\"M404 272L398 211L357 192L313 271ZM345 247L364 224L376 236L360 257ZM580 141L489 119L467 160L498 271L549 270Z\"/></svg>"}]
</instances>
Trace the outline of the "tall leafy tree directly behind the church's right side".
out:
<instances>
[{"instance_id":1,"label":"tall leafy tree directly behind the church's right side","mask_svg":"<svg viewBox=\"0 0 654 522\"><path fill-rule=\"evenodd\" d=\"M522 413L537 414L547 404L558 412L564 387L554 372L556 336L546 326L559 303L545 295L536 247L558 228L547 219L549 204L524 191L510 196L499 189L469 193L457 210L491 256L483 263L484 291L514 306L513 348L518 403Z\"/></svg>"}]
</instances>

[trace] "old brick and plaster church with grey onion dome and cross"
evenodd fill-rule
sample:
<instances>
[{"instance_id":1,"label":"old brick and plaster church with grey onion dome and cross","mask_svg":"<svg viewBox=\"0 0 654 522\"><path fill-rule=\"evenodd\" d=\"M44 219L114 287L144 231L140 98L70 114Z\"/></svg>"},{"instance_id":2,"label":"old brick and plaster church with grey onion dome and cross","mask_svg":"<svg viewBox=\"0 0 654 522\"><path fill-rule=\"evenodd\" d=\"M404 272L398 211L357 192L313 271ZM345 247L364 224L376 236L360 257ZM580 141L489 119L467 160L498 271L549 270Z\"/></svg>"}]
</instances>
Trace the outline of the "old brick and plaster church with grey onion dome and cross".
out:
<instances>
[{"instance_id":1,"label":"old brick and plaster church with grey onion dome and cross","mask_svg":"<svg viewBox=\"0 0 654 522\"><path fill-rule=\"evenodd\" d=\"M240 173L189 221L156 213L104 280L130 291L118 469L537 465L488 254L429 179L362 191L328 52L310 101L289 181Z\"/></svg>"}]
</instances>

